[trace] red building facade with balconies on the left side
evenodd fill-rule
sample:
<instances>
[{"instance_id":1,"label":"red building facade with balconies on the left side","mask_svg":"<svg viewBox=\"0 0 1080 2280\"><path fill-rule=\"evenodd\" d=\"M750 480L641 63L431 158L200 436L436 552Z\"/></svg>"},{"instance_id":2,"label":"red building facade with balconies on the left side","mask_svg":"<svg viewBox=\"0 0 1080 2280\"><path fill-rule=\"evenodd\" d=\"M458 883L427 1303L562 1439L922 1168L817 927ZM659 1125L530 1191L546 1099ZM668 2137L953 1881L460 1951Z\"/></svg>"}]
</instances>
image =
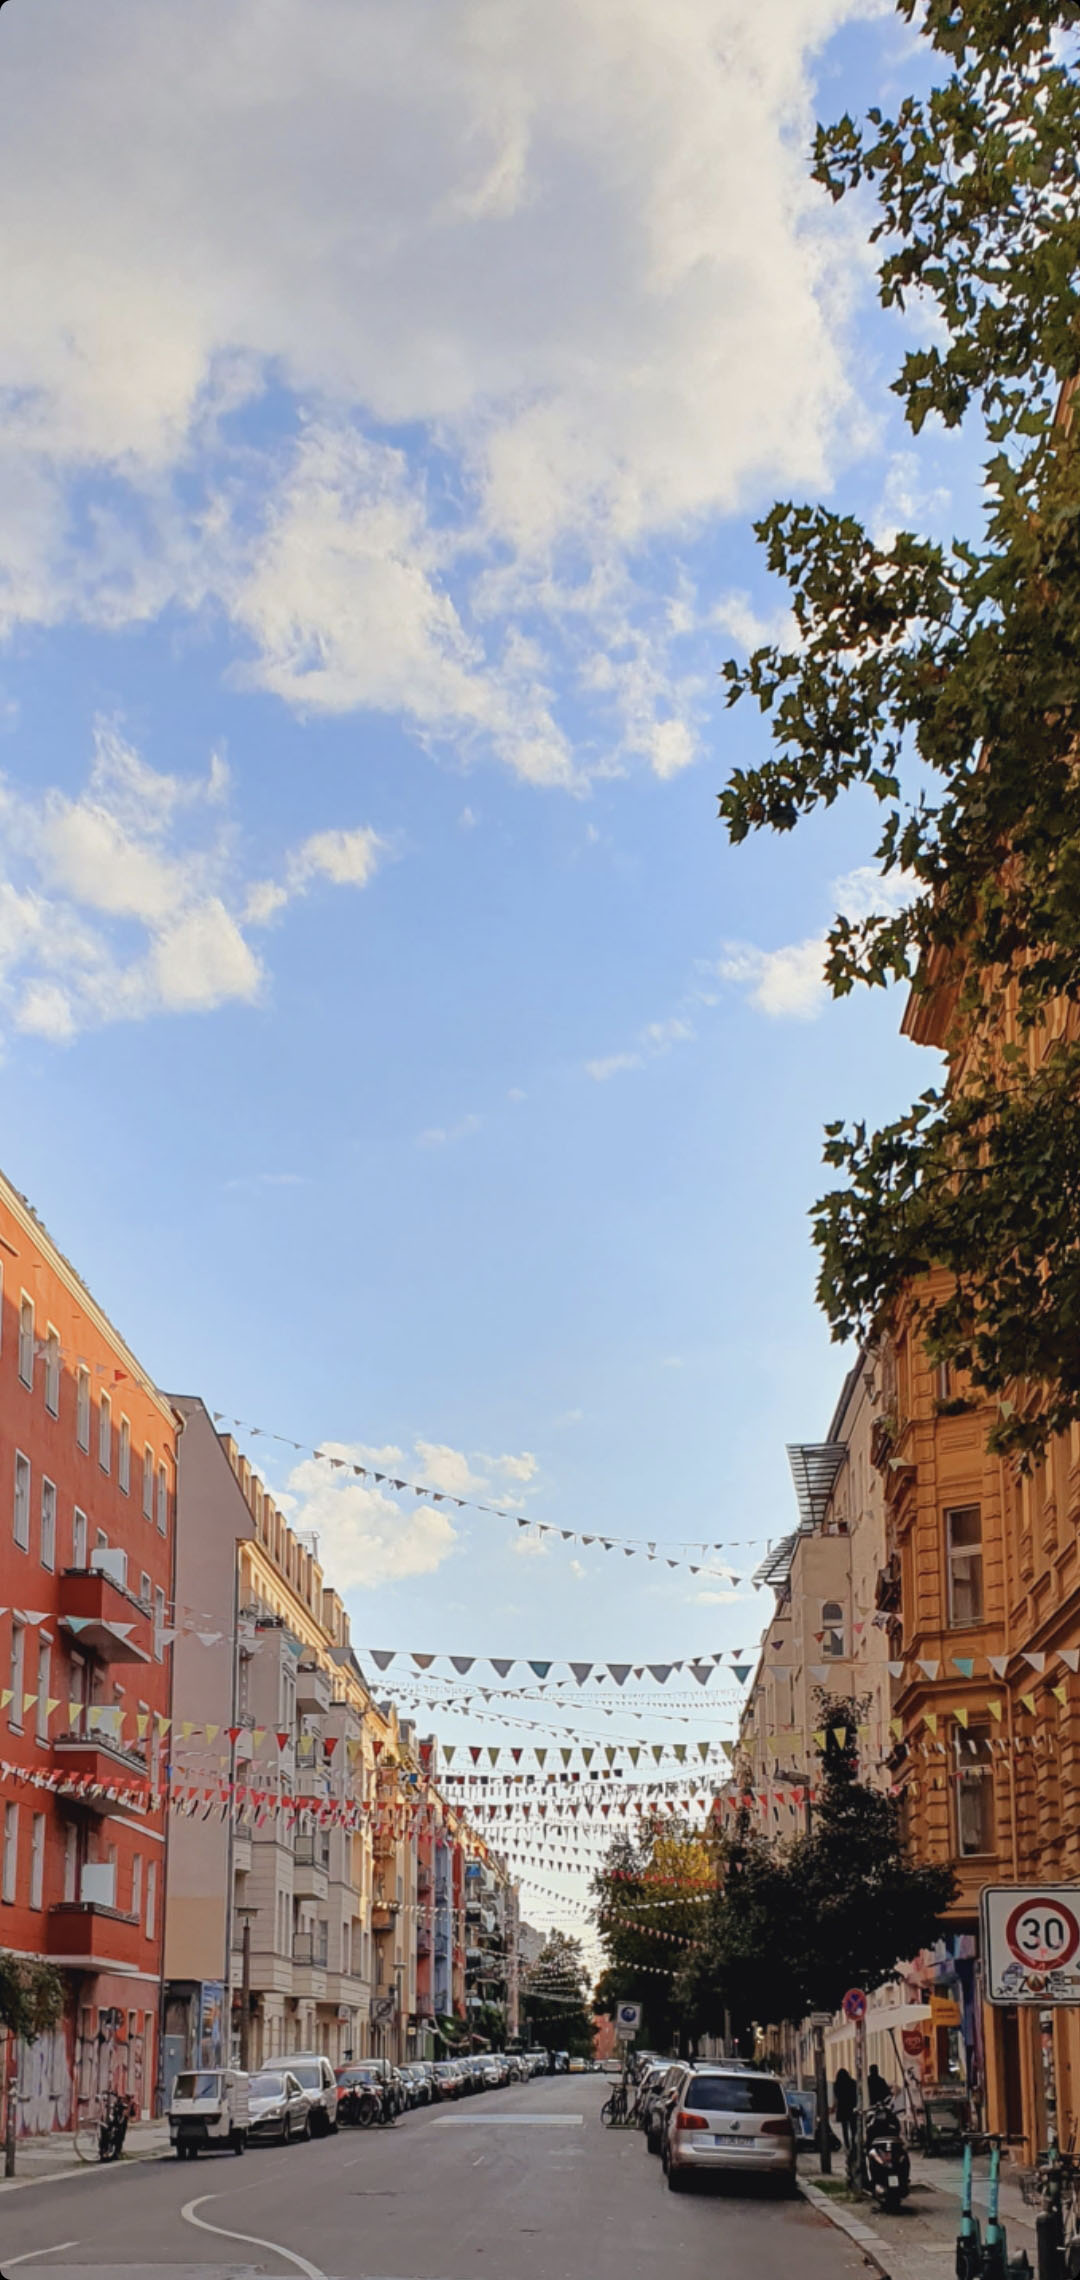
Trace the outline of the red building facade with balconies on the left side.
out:
<instances>
[{"instance_id":1,"label":"red building facade with balconies on the left side","mask_svg":"<svg viewBox=\"0 0 1080 2280\"><path fill-rule=\"evenodd\" d=\"M0 1176L0 1947L66 1984L64 2025L18 2050L18 2134L107 2084L153 2109L175 1434Z\"/></svg>"}]
</instances>

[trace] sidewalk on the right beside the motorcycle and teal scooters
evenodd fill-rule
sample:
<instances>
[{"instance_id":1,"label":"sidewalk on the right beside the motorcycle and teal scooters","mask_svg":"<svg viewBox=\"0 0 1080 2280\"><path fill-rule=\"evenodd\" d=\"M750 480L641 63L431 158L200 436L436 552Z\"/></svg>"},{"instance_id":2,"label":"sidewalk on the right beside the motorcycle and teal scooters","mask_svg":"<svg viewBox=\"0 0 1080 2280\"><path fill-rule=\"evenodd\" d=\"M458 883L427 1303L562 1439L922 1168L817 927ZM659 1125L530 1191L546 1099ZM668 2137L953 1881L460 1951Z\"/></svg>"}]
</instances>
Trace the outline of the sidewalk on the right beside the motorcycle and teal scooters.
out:
<instances>
[{"instance_id":1,"label":"sidewalk on the right beside the motorcycle and teal scooters","mask_svg":"<svg viewBox=\"0 0 1080 2280\"><path fill-rule=\"evenodd\" d=\"M875 2209L870 2200L848 2200L843 2155L834 2155L832 2177L820 2180L818 2157L800 2152L800 2187L823 2216L841 2225L889 2280L948 2280L959 2230L962 2164L911 2157L911 2193L895 2216ZM825 2189L823 2189L825 2187ZM832 2187L832 2191L829 2191ZM1003 2168L998 2196L1000 2218L1009 2237L1009 2257L1028 2250L1034 2271L1034 2209L1009 2182ZM975 2161L975 2214L987 2225L987 2157Z\"/></svg>"}]
</instances>

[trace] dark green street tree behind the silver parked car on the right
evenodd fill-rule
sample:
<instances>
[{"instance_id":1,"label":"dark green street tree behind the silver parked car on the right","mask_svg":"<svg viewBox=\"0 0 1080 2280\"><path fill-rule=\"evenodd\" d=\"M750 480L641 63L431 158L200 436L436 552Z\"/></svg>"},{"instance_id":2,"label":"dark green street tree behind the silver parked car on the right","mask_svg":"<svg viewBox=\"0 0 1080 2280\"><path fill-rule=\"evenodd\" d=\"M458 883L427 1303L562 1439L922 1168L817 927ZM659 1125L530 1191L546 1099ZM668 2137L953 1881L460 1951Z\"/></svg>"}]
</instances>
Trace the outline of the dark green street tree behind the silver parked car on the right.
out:
<instances>
[{"instance_id":1,"label":"dark green street tree behind the silver parked car on the right","mask_svg":"<svg viewBox=\"0 0 1080 2280\"><path fill-rule=\"evenodd\" d=\"M784 1851L743 1813L720 1845L704 1949L684 1970L681 2000L699 2029L836 2011L852 1986L873 1993L900 1959L941 1938L957 1879L916 1867L895 1797L859 1781L859 1703L820 1696L818 1803L809 1835Z\"/></svg>"}]
</instances>

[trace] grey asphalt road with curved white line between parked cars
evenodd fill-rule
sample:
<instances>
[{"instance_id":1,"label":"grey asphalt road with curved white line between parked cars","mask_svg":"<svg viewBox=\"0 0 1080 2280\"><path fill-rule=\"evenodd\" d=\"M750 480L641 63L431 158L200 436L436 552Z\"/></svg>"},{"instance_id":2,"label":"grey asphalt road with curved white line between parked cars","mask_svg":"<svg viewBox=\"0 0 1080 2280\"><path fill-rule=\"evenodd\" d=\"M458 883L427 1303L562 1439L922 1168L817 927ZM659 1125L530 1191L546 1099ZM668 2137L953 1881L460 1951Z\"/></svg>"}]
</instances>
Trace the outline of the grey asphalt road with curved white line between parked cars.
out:
<instances>
[{"instance_id":1,"label":"grey asphalt road with curved white line between parked cars","mask_svg":"<svg viewBox=\"0 0 1080 2280\"><path fill-rule=\"evenodd\" d=\"M606 2084L556 2075L392 2130L132 2161L0 2196L0 2273L52 2280L866 2280L802 2200L668 2193Z\"/></svg>"}]
</instances>

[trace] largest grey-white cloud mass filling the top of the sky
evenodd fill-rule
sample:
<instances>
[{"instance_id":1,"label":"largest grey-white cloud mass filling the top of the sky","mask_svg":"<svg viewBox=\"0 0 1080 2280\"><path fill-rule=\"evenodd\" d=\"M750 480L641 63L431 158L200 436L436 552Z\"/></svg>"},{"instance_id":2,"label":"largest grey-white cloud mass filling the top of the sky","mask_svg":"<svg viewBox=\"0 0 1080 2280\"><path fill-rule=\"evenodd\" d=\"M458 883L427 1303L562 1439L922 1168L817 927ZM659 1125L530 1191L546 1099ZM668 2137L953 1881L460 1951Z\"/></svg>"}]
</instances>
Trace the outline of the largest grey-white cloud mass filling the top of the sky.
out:
<instances>
[{"instance_id":1,"label":"largest grey-white cloud mass filling the top of the sky","mask_svg":"<svg viewBox=\"0 0 1080 2280\"><path fill-rule=\"evenodd\" d=\"M633 568L857 440L804 148L868 5L11 9L0 625L210 604L303 711L674 775L693 611ZM583 762L561 643L611 668Z\"/></svg>"}]
</instances>

